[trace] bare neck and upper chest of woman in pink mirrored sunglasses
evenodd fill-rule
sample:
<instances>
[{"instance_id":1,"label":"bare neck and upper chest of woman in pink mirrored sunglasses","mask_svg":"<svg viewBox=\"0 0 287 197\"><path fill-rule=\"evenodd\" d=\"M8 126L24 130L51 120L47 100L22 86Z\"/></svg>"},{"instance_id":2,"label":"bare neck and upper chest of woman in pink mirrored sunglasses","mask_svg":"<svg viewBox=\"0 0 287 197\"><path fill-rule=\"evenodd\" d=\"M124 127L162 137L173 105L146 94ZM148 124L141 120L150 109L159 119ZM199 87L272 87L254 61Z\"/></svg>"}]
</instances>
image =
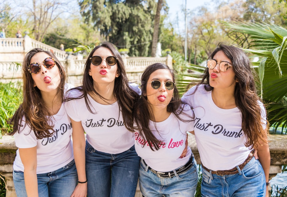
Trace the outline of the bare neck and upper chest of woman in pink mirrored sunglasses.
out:
<instances>
[{"instance_id":1,"label":"bare neck and upper chest of woman in pink mirrored sunglasses","mask_svg":"<svg viewBox=\"0 0 287 197\"><path fill-rule=\"evenodd\" d=\"M234 90L221 90L214 88L211 92L214 104L221 109L232 109L236 107Z\"/></svg>"}]
</instances>

